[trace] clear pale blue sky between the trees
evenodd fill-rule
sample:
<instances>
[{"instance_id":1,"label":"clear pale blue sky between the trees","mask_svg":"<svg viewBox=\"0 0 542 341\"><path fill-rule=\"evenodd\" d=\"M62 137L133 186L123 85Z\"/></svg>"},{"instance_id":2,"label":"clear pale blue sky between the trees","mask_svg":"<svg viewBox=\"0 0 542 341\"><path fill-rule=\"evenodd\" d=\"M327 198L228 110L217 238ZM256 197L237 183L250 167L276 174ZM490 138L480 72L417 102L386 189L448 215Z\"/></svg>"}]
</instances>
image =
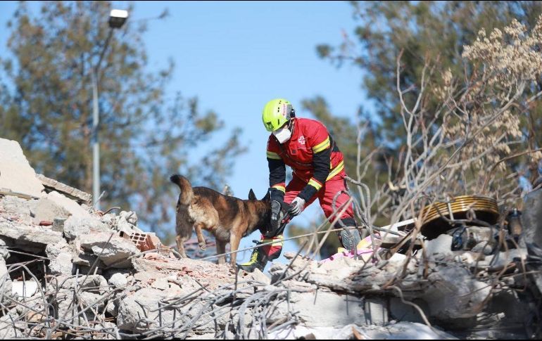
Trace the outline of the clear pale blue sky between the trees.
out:
<instances>
[{"instance_id":1,"label":"clear pale blue sky between the trees","mask_svg":"<svg viewBox=\"0 0 542 341\"><path fill-rule=\"evenodd\" d=\"M128 3L114 4L123 9ZM6 22L16 6L15 1L0 2L0 57L6 55ZM237 158L228 178L239 198L247 198L249 188L258 197L267 191L268 133L261 122L267 101L287 98L298 117L310 117L301 101L316 95L327 100L335 115L353 117L365 104L361 70L350 65L338 69L315 51L317 44L338 44L341 31L353 32L346 1L137 1L129 20L156 17L166 7L170 16L149 21L144 34L149 70L172 58L176 68L170 96L177 91L197 96L202 110L215 110L225 120L224 131L194 153L224 142L234 127L243 129L240 137L248 152ZM319 212L315 202L296 222L309 224ZM244 238L241 247L257 238ZM294 246L288 243L285 249Z\"/></svg>"}]
</instances>

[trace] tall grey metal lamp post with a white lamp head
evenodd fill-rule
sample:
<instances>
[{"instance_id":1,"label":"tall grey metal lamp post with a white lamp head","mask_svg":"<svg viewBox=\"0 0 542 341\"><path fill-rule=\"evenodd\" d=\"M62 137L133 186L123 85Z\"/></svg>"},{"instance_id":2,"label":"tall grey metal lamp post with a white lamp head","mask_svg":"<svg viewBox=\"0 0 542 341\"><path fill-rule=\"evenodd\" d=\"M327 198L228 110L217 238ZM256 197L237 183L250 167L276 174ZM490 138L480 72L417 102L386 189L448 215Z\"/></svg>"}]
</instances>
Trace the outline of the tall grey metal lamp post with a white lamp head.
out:
<instances>
[{"instance_id":1,"label":"tall grey metal lamp post with a white lamp head","mask_svg":"<svg viewBox=\"0 0 542 341\"><path fill-rule=\"evenodd\" d=\"M107 46L111 37L113 36L113 30L120 28L126 22L128 18L128 11L114 9L109 14L109 34L106 39L106 44L103 45L103 49L100 53L100 58L96 66L92 67L92 200L94 201L94 207L99 209L98 201L100 196L100 143L98 139L98 130L100 123L100 109L98 105L98 71L100 68L103 55L106 53Z\"/></svg>"}]
</instances>

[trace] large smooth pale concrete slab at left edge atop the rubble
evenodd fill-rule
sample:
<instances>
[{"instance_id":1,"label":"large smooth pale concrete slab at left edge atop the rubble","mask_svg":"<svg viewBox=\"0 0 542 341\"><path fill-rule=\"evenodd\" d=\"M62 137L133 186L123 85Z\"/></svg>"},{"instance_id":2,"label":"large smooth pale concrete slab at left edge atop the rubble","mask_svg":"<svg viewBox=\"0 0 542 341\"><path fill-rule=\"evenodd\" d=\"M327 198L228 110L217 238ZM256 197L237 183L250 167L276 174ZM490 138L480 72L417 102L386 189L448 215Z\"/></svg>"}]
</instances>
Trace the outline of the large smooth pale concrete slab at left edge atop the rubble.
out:
<instances>
[{"instance_id":1,"label":"large smooth pale concrete slab at left edge atop the rubble","mask_svg":"<svg viewBox=\"0 0 542 341\"><path fill-rule=\"evenodd\" d=\"M44 190L17 141L0 139L0 188L34 197Z\"/></svg>"}]
</instances>

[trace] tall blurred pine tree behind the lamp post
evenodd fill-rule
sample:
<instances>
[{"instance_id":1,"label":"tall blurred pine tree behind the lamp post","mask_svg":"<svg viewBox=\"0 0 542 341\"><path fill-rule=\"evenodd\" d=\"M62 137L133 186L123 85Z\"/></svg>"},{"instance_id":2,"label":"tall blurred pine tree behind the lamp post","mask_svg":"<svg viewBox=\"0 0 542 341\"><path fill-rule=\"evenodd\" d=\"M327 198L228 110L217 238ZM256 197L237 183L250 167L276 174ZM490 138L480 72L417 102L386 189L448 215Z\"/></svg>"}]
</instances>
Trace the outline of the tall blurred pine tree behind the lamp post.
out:
<instances>
[{"instance_id":1,"label":"tall blurred pine tree behind the lamp post","mask_svg":"<svg viewBox=\"0 0 542 341\"><path fill-rule=\"evenodd\" d=\"M0 98L0 136L19 141L38 172L70 186L92 188L92 68L98 74L101 112L103 207L136 209L151 231L171 221L172 172L221 188L234 156L244 148L232 131L223 146L201 160L191 153L223 127L197 98L165 98L174 63L147 72L144 22L127 21L108 48L108 1L46 1L38 15L21 3L8 25ZM132 11L130 8L129 11ZM191 160L191 161L189 161Z\"/></svg>"}]
</instances>

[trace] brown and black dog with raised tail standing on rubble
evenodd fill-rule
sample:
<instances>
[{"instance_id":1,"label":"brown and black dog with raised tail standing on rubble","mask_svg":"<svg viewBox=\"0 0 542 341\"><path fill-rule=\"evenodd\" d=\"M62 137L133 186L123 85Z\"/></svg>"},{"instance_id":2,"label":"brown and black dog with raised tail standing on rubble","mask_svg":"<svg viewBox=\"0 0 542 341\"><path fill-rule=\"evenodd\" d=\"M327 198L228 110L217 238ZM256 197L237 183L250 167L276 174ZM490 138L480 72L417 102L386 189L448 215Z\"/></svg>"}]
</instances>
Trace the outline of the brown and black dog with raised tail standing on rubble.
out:
<instances>
[{"instance_id":1,"label":"brown and black dog with raised tail standing on rubble","mask_svg":"<svg viewBox=\"0 0 542 341\"><path fill-rule=\"evenodd\" d=\"M222 195L207 187L192 187L184 176L175 174L170 177L173 184L181 189L177 200L175 238L179 254L187 257L184 252L184 240L190 238L196 230L198 245L205 249L206 243L202 229L213 234L216 238L218 255L226 252L226 244L232 251L237 251L242 237L256 229L270 230L271 203L267 193L262 200L256 200L251 190L248 200ZM237 253L232 253L231 264L235 266ZM218 258L218 263L225 263L225 256Z\"/></svg>"}]
</instances>

